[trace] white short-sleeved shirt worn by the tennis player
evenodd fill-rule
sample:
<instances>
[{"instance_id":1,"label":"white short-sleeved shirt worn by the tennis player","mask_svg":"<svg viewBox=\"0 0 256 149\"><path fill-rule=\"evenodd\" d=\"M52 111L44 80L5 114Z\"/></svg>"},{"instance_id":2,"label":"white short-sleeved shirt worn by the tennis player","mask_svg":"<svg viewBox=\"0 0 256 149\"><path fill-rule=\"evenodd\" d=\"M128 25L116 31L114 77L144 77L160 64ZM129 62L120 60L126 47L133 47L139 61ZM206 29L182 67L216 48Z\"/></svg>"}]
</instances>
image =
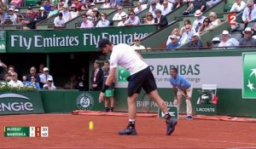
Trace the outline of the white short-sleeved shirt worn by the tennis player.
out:
<instances>
[{"instance_id":1,"label":"white short-sleeved shirt worn by the tennis player","mask_svg":"<svg viewBox=\"0 0 256 149\"><path fill-rule=\"evenodd\" d=\"M109 62L110 68L122 66L129 71L131 75L148 67L148 64L141 60L136 51L125 43L119 43L113 46Z\"/></svg>"}]
</instances>

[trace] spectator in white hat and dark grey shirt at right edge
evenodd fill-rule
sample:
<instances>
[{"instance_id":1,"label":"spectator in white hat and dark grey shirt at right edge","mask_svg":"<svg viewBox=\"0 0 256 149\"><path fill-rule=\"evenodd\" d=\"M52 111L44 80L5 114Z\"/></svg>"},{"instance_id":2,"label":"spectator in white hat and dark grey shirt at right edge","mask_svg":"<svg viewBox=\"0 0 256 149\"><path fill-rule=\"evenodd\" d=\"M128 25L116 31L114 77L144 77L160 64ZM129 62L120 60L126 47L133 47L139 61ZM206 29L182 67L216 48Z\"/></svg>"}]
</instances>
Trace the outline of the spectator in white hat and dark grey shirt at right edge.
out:
<instances>
[{"instance_id":1,"label":"spectator in white hat and dark grey shirt at right edge","mask_svg":"<svg viewBox=\"0 0 256 149\"><path fill-rule=\"evenodd\" d=\"M240 46L256 45L256 39L252 37L253 30L250 27L247 27L242 33L244 37L239 41Z\"/></svg>"}]
</instances>

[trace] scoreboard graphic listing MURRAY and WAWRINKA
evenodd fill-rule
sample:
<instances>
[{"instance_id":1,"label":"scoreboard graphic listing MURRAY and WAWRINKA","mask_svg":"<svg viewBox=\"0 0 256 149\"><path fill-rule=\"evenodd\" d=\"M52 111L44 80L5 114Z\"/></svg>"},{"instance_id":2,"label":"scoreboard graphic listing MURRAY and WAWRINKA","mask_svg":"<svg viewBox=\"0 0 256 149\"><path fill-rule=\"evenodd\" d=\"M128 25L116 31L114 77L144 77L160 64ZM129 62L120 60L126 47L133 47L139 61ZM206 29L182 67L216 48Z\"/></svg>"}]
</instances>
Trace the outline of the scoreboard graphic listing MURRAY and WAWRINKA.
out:
<instances>
[{"instance_id":1,"label":"scoreboard graphic listing MURRAY and WAWRINKA","mask_svg":"<svg viewBox=\"0 0 256 149\"><path fill-rule=\"evenodd\" d=\"M48 137L49 129L42 127L6 126L4 127L5 137Z\"/></svg>"}]
</instances>

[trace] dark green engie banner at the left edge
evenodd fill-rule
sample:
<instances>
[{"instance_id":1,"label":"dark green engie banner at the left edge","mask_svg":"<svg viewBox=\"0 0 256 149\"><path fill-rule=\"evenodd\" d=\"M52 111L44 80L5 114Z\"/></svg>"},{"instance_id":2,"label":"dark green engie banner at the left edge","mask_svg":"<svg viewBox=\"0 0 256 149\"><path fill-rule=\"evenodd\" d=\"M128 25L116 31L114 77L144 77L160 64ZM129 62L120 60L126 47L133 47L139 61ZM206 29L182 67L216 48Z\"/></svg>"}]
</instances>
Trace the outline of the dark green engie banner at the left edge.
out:
<instances>
[{"instance_id":1,"label":"dark green engie banner at the left edge","mask_svg":"<svg viewBox=\"0 0 256 149\"><path fill-rule=\"evenodd\" d=\"M0 94L0 115L44 113L39 92Z\"/></svg>"}]
</instances>

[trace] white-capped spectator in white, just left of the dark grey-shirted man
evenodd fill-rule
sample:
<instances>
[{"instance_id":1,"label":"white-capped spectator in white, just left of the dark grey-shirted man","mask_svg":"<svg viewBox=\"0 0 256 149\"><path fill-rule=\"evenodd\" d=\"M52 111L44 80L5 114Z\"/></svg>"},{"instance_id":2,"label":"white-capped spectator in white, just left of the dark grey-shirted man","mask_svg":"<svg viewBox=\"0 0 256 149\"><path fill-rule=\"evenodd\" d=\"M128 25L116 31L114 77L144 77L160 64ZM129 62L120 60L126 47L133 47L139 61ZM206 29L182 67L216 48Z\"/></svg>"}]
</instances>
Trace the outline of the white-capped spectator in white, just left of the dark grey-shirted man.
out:
<instances>
[{"instance_id":1,"label":"white-capped spectator in white, just left of the dark grey-shirted man","mask_svg":"<svg viewBox=\"0 0 256 149\"><path fill-rule=\"evenodd\" d=\"M221 42L218 44L219 49L225 49L227 47L236 47L239 42L235 38L230 38L230 33L224 30L221 34Z\"/></svg>"}]
</instances>

